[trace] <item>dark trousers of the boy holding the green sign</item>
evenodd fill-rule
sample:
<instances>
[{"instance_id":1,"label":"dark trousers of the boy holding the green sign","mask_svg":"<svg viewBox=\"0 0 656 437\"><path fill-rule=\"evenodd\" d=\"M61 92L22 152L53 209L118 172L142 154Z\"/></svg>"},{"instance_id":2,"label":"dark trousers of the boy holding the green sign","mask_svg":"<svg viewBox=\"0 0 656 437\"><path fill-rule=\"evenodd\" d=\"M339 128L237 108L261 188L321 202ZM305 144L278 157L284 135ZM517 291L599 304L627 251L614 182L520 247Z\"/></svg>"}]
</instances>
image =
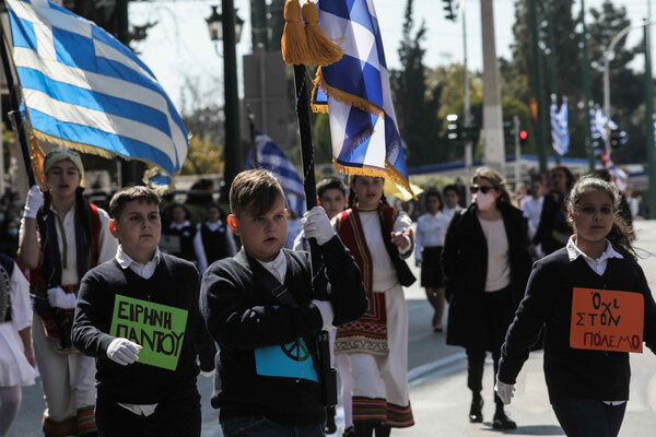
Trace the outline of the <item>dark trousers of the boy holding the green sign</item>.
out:
<instances>
[{"instance_id":1,"label":"dark trousers of the boy holding the green sign","mask_svg":"<svg viewBox=\"0 0 656 437\"><path fill-rule=\"evenodd\" d=\"M159 402L150 416L134 414L98 395L95 417L101 437L200 437L200 394L196 387L178 391Z\"/></svg>"}]
</instances>

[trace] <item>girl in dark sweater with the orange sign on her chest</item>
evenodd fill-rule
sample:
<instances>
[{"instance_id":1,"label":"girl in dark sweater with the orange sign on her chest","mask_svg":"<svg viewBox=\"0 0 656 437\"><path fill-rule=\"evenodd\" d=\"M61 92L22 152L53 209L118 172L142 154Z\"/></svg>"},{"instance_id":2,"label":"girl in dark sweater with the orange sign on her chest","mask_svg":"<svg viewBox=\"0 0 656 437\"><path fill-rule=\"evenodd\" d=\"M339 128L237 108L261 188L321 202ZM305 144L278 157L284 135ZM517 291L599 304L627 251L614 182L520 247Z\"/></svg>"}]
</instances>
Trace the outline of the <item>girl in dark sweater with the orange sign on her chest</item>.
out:
<instances>
[{"instance_id":1,"label":"girl in dark sweater with the orange sign on her chest","mask_svg":"<svg viewBox=\"0 0 656 437\"><path fill-rule=\"evenodd\" d=\"M628 352L642 352L641 339L656 351L656 304L618 215L620 199L613 185L589 176L572 188L574 235L536 262L501 349L495 390L508 404L544 326L549 400L570 437L617 436L629 400Z\"/></svg>"}]
</instances>

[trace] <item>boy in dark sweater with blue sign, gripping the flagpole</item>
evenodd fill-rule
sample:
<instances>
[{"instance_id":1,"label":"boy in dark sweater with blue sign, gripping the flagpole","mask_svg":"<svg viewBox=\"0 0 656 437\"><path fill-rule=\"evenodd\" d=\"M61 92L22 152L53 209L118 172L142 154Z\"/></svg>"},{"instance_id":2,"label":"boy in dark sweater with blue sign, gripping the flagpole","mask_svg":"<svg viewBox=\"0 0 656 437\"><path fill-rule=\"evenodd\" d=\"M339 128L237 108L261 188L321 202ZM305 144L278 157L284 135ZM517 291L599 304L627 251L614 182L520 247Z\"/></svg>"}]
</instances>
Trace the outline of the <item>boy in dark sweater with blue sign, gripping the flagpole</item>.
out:
<instances>
[{"instance_id":1,"label":"boy in dark sweater with blue sign, gripping the flagpole","mask_svg":"<svg viewBox=\"0 0 656 437\"><path fill-rule=\"evenodd\" d=\"M212 406L221 409L223 435L324 436L316 338L366 310L360 270L326 212L314 208L303 227L316 238L330 282L329 300L314 296L309 253L283 249L284 191L270 172L237 175L230 205L227 223L243 249L208 269L200 293L203 319L220 346ZM285 292L273 293L271 284Z\"/></svg>"}]
</instances>

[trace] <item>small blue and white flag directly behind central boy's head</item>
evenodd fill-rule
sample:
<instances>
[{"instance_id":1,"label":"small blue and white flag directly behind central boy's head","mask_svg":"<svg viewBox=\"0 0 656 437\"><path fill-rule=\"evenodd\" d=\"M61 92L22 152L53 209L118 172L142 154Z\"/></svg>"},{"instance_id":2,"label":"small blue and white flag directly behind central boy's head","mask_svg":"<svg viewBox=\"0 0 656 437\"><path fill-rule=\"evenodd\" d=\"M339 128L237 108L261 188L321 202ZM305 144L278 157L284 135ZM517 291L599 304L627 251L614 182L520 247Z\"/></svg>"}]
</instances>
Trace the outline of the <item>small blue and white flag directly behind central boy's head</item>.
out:
<instances>
[{"instance_id":1,"label":"small blue and white flag directly behind central boy's head","mask_svg":"<svg viewBox=\"0 0 656 437\"><path fill-rule=\"evenodd\" d=\"M255 131L255 149L257 150L257 165L266 168L280 178L290 210L298 216L305 213L305 190L303 182L292 164L280 147L268 135L259 130ZM246 168L253 168L253 151L246 156Z\"/></svg>"}]
</instances>

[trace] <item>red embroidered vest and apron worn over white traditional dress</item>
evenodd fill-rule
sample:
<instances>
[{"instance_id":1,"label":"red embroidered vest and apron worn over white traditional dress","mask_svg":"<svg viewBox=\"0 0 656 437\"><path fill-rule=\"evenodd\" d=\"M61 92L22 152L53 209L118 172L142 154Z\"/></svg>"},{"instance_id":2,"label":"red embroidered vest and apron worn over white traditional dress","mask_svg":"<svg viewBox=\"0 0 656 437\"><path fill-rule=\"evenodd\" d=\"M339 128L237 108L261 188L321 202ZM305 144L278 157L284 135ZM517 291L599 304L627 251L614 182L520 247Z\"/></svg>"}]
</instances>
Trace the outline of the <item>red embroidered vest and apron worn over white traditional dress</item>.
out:
<instances>
[{"instance_id":1,"label":"red embroidered vest and apron worn over white traditional dress","mask_svg":"<svg viewBox=\"0 0 656 437\"><path fill-rule=\"evenodd\" d=\"M398 210L380 203L378 206L382 223L393 229ZM359 320L342 324L337 329L335 353L362 352L372 355L387 355L387 311L385 293L373 291L373 261L364 238L362 222L356 209L349 209L337 216L336 231L344 246L349 248L362 272L368 307Z\"/></svg>"}]
</instances>

